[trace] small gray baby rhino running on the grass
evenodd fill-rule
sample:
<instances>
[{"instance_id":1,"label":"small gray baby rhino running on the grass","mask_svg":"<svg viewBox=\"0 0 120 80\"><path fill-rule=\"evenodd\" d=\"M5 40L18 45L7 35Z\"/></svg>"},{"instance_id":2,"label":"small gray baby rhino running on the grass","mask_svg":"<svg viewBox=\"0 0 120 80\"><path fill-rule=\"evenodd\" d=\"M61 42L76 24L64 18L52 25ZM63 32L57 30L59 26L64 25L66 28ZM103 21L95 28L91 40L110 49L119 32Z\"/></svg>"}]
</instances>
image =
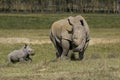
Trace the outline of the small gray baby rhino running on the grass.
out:
<instances>
[{"instance_id":1,"label":"small gray baby rhino running on the grass","mask_svg":"<svg viewBox=\"0 0 120 80\"><path fill-rule=\"evenodd\" d=\"M10 54L8 54L8 61L15 63L15 62L23 62L23 61L32 61L30 55L35 55L33 49L31 49L28 45L25 44L19 50L14 50Z\"/></svg>"}]
</instances>

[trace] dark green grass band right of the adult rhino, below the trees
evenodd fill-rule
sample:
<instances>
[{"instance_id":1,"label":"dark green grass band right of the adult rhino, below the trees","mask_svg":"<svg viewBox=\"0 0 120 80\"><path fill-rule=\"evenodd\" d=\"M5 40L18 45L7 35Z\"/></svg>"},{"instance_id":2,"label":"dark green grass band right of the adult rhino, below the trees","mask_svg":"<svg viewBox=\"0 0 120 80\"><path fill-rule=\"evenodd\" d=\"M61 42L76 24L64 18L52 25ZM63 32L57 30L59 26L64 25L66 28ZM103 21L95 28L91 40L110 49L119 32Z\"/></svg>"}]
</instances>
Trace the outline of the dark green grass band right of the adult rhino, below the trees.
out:
<instances>
[{"instance_id":1,"label":"dark green grass band right of the adult rhino, below the trees","mask_svg":"<svg viewBox=\"0 0 120 80\"><path fill-rule=\"evenodd\" d=\"M91 28L120 28L119 14L91 14L86 17Z\"/></svg>"}]
</instances>

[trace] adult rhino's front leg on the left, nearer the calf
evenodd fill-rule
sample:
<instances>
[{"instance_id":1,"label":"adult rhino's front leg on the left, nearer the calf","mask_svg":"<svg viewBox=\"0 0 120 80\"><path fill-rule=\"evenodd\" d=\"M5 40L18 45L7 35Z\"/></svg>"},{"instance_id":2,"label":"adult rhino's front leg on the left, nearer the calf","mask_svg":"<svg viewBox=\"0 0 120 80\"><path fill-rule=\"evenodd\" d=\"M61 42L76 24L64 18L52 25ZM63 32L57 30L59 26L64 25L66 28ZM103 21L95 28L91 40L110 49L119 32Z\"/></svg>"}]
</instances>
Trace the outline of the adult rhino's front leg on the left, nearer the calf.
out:
<instances>
[{"instance_id":1,"label":"adult rhino's front leg on the left, nearer the calf","mask_svg":"<svg viewBox=\"0 0 120 80\"><path fill-rule=\"evenodd\" d=\"M61 58L67 58L69 48L70 48L69 41L66 39L62 39L61 44L62 44L62 50L63 50L61 54Z\"/></svg>"}]
</instances>

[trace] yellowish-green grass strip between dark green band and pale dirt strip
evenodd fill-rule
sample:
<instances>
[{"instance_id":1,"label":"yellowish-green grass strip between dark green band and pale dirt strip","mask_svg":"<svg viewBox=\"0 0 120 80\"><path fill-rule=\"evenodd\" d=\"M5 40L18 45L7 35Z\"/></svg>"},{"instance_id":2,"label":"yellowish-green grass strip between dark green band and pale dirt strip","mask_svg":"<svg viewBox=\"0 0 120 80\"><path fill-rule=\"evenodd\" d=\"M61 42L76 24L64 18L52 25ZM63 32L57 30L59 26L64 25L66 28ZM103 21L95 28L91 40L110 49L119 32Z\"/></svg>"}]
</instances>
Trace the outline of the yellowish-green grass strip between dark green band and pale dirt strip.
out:
<instances>
[{"instance_id":1,"label":"yellowish-green grass strip between dark green band and pale dirt strip","mask_svg":"<svg viewBox=\"0 0 120 80\"><path fill-rule=\"evenodd\" d=\"M0 37L49 38L49 29L1 29ZM120 38L119 28L90 28L90 36L95 38Z\"/></svg>"}]
</instances>

